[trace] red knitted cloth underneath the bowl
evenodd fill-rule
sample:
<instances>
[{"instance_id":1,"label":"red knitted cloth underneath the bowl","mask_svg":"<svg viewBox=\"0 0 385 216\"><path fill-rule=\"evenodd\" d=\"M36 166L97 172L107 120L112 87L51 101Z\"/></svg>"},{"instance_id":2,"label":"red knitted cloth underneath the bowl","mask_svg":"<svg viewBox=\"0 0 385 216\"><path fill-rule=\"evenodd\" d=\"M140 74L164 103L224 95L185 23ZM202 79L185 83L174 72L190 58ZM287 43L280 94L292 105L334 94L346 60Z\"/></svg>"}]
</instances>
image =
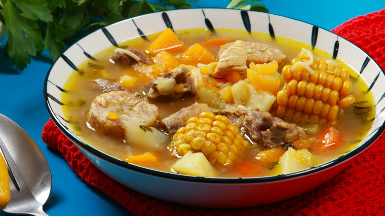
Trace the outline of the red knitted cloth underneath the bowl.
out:
<instances>
[{"instance_id":1,"label":"red knitted cloth underneath the bowl","mask_svg":"<svg viewBox=\"0 0 385 216\"><path fill-rule=\"evenodd\" d=\"M385 69L385 9L353 18L332 32L361 47ZM78 176L133 215L385 215L385 135L335 178L289 200L241 209L205 209L160 201L133 191L98 170L56 127L44 125L42 139L58 149Z\"/></svg>"}]
</instances>

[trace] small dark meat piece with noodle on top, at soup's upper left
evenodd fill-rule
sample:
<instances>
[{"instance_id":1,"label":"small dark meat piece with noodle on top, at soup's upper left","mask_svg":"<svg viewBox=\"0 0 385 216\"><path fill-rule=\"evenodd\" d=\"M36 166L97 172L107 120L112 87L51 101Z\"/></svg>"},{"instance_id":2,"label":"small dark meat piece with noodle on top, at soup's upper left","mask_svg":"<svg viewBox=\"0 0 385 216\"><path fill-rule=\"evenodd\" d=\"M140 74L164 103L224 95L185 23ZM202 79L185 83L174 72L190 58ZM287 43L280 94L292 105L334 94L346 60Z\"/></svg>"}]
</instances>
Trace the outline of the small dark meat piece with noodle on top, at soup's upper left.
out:
<instances>
[{"instance_id":1,"label":"small dark meat piece with noodle on top, at soup's upper left","mask_svg":"<svg viewBox=\"0 0 385 216\"><path fill-rule=\"evenodd\" d=\"M128 53L128 54L127 54ZM116 48L114 55L111 57L117 65L130 66L137 62L142 62L147 65L152 65L150 60L141 52L135 49Z\"/></svg>"}]
</instances>

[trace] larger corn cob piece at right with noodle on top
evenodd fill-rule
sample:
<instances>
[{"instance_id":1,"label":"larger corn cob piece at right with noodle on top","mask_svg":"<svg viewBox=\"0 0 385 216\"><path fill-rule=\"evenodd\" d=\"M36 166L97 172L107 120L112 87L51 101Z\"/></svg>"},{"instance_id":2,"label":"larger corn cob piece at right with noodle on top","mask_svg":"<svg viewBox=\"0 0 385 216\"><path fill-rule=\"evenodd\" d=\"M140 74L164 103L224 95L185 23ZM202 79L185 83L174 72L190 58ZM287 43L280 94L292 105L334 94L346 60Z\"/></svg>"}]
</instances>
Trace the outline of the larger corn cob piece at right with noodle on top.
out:
<instances>
[{"instance_id":1,"label":"larger corn cob piece at right with noodle on top","mask_svg":"<svg viewBox=\"0 0 385 216\"><path fill-rule=\"evenodd\" d=\"M303 49L292 65L282 69L287 84L277 93L276 115L293 121L333 124L340 108L354 103L348 77L347 70L334 61L318 60Z\"/></svg>"}]
</instances>

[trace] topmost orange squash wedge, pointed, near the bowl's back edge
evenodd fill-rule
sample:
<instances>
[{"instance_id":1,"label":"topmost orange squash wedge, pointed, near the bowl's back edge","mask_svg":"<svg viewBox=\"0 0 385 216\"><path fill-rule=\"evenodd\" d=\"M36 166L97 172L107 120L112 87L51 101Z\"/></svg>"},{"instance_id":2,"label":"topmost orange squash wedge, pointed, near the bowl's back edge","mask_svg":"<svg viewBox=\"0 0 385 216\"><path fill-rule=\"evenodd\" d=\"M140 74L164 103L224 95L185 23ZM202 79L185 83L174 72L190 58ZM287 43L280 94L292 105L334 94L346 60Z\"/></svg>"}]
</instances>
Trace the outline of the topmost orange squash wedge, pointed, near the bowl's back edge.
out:
<instances>
[{"instance_id":1,"label":"topmost orange squash wedge, pointed, near the bowl's back edge","mask_svg":"<svg viewBox=\"0 0 385 216\"><path fill-rule=\"evenodd\" d=\"M185 44L183 44L175 33L166 28L160 36L158 36L154 42L147 48L150 55L155 56L156 53L167 50L169 53L177 54L186 50Z\"/></svg>"}]
</instances>

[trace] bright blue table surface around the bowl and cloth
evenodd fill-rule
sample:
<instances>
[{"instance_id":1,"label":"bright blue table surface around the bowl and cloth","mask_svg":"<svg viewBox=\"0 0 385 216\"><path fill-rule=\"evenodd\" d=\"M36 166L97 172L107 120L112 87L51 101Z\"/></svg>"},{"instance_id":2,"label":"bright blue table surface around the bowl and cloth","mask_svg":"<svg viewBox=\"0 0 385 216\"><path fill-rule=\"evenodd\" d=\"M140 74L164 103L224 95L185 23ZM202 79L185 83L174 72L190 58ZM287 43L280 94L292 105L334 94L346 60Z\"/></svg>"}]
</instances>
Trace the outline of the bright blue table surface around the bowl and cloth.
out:
<instances>
[{"instance_id":1,"label":"bright blue table surface around the bowl and cloth","mask_svg":"<svg viewBox=\"0 0 385 216\"><path fill-rule=\"evenodd\" d=\"M158 3L157 0L149 0ZM197 0L192 7L225 8L230 0ZM282 15L332 30L349 19L385 8L384 0L262 0L272 14ZM47 52L32 57L19 71L3 53L0 41L0 113L19 124L39 145L52 172L52 190L43 209L48 215L131 215L106 194L81 180L62 155L47 147L41 131L49 119L44 105L43 83L52 61ZM0 212L0 215L5 215Z\"/></svg>"}]
</instances>

